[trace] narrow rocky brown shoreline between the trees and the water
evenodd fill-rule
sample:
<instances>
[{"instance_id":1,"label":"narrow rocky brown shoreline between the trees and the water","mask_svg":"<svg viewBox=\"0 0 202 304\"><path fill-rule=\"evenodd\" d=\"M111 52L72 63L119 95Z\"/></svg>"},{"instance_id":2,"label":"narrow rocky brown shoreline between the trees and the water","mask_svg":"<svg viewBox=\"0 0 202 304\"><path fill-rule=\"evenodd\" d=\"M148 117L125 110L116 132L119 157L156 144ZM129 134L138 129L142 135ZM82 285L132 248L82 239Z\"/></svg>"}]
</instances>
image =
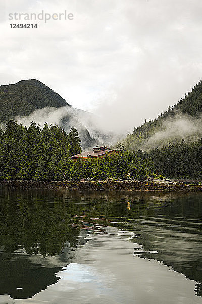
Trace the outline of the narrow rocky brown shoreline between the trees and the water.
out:
<instances>
[{"instance_id":1,"label":"narrow rocky brown shoreline between the trees and the water","mask_svg":"<svg viewBox=\"0 0 202 304\"><path fill-rule=\"evenodd\" d=\"M187 185L169 180L149 178L144 181L84 179L80 181L32 181L8 180L0 181L0 187L10 189L67 189L67 190L95 190L95 191L202 191L200 185Z\"/></svg>"}]
</instances>

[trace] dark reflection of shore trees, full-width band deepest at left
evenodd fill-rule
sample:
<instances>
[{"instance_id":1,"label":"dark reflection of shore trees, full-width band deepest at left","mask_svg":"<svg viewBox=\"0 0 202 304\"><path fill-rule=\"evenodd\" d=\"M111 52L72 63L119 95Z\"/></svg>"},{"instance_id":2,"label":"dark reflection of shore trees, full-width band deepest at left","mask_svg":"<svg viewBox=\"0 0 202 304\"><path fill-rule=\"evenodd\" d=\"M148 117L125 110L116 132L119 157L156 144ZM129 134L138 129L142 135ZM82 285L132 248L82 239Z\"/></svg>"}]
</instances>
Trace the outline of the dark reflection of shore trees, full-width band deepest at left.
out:
<instances>
[{"instance_id":1,"label":"dark reflection of shore trees, full-width band deepest at left","mask_svg":"<svg viewBox=\"0 0 202 304\"><path fill-rule=\"evenodd\" d=\"M64 241L69 241L71 247L77 245L79 231L71 226L71 215L110 220L161 214L168 219L176 215L195 218L202 214L202 205L200 194L194 196L193 200L187 193L6 192L4 201L0 201L0 244L8 253L23 244L29 254L55 255L61 252ZM181 221L180 227L183 226L188 224Z\"/></svg>"}]
</instances>

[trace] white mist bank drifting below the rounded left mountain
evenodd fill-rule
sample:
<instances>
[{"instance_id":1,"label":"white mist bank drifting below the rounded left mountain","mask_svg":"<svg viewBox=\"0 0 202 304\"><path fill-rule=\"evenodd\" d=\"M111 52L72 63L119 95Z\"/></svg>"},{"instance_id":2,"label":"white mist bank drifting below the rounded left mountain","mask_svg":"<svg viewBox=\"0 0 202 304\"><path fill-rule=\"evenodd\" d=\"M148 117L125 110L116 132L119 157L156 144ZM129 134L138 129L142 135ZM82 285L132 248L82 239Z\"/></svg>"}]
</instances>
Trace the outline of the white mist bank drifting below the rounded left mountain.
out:
<instances>
[{"instance_id":1,"label":"white mist bank drifting below the rounded left mountain","mask_svg":"<svg viewBox=\"0 0 202 304\"><path fill-rule=\"evenodd\" d=\"M125 134L116 134L103 124L102 118L86 111L75 109L70 106L60 108L45 107L35 110L29 116L16 116L18 124L29 127L32 121L43 127L44 123L48 125L59 125L69 132L71 127L75 127L81 138L81 144L84 149L95 145L112 146L116 144Z\"/></svg>"}]
</instances>

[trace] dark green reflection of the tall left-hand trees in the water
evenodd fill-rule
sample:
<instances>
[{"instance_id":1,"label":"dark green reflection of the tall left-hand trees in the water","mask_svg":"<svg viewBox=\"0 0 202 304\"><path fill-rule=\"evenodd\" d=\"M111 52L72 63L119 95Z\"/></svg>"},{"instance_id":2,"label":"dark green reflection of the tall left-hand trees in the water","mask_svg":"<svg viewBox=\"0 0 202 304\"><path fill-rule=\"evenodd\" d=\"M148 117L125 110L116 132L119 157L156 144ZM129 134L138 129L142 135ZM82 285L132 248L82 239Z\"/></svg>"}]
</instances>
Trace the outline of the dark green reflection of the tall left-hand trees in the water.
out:
<instances>
[{"instance_id":1,"label":"dark green reflection of the tall left-hand trees in the water","mask_svg":"<svg viewBox=\"0 0 202 304\"><path fill-rule=\"evenodd\" d=\"M54 255L64 241L77 245L78 230L70 226L67 205L53 196L11 192L1 202L1 210L0 242L8 253L23 245L28 254Z\"/></svg>"}]
</instances>

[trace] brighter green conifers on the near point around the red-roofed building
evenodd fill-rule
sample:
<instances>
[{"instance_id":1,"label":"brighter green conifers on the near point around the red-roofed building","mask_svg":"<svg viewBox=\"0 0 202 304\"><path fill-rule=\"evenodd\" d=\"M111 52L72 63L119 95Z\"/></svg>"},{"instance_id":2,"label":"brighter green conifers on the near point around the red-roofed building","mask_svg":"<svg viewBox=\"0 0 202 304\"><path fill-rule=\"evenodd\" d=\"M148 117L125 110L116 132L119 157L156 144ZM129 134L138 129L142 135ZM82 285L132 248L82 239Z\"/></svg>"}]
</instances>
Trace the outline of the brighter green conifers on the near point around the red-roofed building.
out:
<instances>
[{"instance_id":1,"label":"brighter green conifers on the near point around the red-roofed building","mask_svg":"<svg viewBox=\"0 0 202 304\"><path fill-rule=\"evenodd\" d=\"M81 152L76 128L67 134L59 126L48 127L32 122L29 128L13 120L0 129L0 178L2 180L64 180L73 178L126 179L146 178L154 170L149 157L139 158L136 152L120 151L119 156L73 162L71 156Z\"/></svg>"}]
</instances>

